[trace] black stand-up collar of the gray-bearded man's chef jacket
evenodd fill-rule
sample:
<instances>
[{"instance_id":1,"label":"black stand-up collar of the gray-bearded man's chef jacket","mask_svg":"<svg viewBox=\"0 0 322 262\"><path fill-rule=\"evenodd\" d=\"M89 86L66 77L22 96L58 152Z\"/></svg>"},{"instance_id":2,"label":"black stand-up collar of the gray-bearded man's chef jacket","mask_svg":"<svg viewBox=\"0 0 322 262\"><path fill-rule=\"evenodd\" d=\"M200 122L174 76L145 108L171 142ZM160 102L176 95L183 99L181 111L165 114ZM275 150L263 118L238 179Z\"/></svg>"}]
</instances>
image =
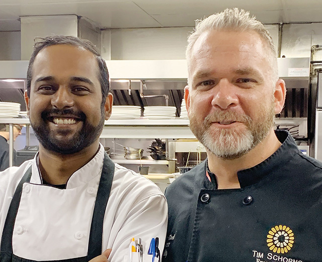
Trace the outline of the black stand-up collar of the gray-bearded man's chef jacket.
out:
<instances>
[{"instance_id":1,"label":"black stand-up collar of the gray-bearded man's chef jacket","mask_svg":"<svg viewBox=\"0 0 322 262\"><path fill-rule=\"evenodd\" d=\"M244 170L237 172L240 188L254 185L259 182L265 176L270 174L273 170L283 166L286 162L290 161L294 155L300 153L298 147L288 131L275 130L275 134L282 145L263 162ZM207 160L208 161L208 160ZM205 169L207 168L207 162L205 162ZM214 174L210 174L210 177L214 178ZM215 184L212 184L205 176L204 187L213 188Z\"/></svg>"}]
</instances>

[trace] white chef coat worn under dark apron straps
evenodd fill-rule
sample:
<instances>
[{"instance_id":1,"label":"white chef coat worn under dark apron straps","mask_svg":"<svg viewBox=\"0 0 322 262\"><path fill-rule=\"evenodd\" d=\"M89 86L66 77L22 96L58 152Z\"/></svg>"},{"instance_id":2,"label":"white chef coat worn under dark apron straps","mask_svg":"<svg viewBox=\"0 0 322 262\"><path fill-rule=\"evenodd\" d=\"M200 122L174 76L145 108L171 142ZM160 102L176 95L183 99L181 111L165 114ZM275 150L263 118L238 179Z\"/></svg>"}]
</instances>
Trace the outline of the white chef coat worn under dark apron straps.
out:
<instances>
[{"instance_id":1,"label":"white chef coat worn under dark apron straps","mask_svg":"<svg viewBox=\"0 0 322 262\"><path fill-rule=\"evenodd\" d=\"M42 185L37 155L19 167L0 172L0 238L15 190L32 165L25 183L13 234L15 255L32 260L59 260L87 255L94 204L103 168L104 148L75 171L66 189ZM112 248L111 262L123 262L132 237L141 238L147 252L152 237L165 243L168 206L151 181L115 164L103 224L102 251Z\"/></svg>"}]
</instances>

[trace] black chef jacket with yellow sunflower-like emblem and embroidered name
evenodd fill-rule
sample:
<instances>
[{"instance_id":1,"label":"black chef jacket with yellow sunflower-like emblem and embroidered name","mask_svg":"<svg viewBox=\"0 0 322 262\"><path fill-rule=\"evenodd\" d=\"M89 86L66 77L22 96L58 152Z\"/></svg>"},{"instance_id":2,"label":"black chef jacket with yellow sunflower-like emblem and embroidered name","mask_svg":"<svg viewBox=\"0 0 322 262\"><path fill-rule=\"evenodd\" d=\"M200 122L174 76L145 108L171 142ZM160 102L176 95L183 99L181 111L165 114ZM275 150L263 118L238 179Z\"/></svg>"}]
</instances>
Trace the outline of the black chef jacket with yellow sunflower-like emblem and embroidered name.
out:
<instances>
[{"instance_id":1,"label":"black chef jacket with yellow sunflower-like emblem and embroidered name","mask_svg":"<svg viewBox=\"0 0 322 262\"><path fill-rule=\"evenodd\" d=\"M237 172L240 189L217 190L206 161L167 188L163 262L322 261L322 163L276 135L274 154Z\"/></svg>"}]
</instances>

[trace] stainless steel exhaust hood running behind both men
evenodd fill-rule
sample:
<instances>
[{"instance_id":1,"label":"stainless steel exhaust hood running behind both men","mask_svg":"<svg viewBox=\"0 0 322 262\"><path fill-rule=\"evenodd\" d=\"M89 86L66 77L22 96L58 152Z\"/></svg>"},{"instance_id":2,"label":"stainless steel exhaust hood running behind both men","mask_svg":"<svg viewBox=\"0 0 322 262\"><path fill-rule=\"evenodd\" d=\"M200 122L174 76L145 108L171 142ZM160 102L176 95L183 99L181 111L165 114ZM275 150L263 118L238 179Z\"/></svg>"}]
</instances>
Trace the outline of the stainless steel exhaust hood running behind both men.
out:
<instances>
[{"instance_id":1,"label":"stainless steel exhaust hood running behind both men","mask_svg":"<svg viewBox=\"0 0 322 262\"><path fill-rule=\"evenodd\" d=\"M115 105L165 105L163 97L141 98L140 80L144 80L143 94L168 95L169 105L176 106L179 115L188 77L186 60L107 60L106 63ZM307 116L309 63L308 57L278 58L279 77L285 80L288 89L281 117ZM27 66L28 61L0 61L0 79L25 78ZM128 80L131 80L130 91ZM0 89L0 100L9 99L7 90ZM22 92L14 96L16 101L23 101Z\"/></svg>"}]
</instances>

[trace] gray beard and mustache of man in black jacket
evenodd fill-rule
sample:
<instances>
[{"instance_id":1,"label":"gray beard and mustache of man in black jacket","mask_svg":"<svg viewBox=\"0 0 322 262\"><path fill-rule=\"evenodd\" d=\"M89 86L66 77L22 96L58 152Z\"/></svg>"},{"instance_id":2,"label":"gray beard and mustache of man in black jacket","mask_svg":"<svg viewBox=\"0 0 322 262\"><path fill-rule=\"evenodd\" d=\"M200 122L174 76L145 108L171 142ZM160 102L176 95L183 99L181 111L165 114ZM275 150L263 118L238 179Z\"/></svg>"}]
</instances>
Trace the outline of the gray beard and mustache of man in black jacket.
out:
<instances>
[{"instance_id":1,"label":"gray beard and mustache of man in black jacket","mask_svg":"<svg viewBox=\"0 0 322 262\"><path fill-rule=\"evenodd\" d=\"M222 159L239 158L268 135L274 126L274 108L263 110L258 120L252 120L247 115L240 115L233 111L219 111L208 115L202 127L197 124L194 114L190 115L190 129L197 139L215 156ZM245 128L214 129L212 122L235 120L244 123ZM211 129L210 129L211 128Z\"/></svg>"}]
</instances>

